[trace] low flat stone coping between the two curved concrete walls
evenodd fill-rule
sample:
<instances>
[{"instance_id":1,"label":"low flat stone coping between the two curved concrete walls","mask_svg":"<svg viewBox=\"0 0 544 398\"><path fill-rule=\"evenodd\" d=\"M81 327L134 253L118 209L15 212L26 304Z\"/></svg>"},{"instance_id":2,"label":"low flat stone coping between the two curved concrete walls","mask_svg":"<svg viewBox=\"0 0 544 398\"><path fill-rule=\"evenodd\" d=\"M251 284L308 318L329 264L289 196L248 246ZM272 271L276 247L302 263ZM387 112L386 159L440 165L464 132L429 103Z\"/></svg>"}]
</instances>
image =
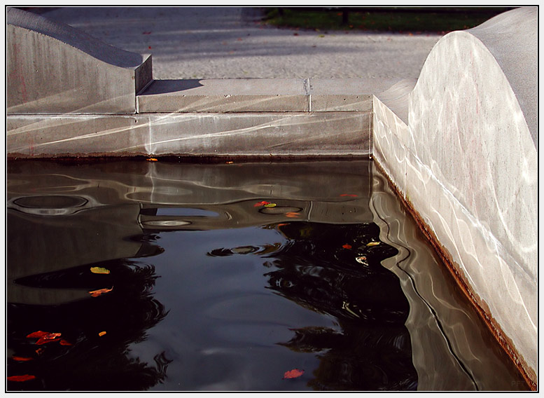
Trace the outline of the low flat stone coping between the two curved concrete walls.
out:
<instances>
[{"instance_id":1,"label":"low flat stone coping between the two curved concrete walls","mask_svg":"<svg viewBox=\"0 0 544 398\"><path fill-rule=\"evenodd\" d=\"M137 96L141 113L372 110L372 94L395 81L365 78L155 80Z\"/></svg>"}]
</instances>

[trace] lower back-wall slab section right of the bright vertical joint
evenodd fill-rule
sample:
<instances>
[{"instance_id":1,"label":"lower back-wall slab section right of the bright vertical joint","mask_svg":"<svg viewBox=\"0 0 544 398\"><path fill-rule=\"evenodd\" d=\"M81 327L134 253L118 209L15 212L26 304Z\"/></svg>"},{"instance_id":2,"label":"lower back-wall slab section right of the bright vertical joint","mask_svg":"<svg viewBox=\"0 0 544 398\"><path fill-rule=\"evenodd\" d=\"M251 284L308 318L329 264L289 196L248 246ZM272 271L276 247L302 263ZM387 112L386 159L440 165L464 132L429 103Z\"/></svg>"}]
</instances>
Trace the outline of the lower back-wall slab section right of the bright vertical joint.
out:
<instances>
[{"instance_id":1,"label":"lower back-wall slab section right of the bright vertical joint","mask_svg":"<svg viewBox=\"0 0 544 398\"><path fill-rule=\"evenodd\" d=\"M368 155L370 114L150 115L150 152L156 155Z\"/></svg>"}]
</instances>

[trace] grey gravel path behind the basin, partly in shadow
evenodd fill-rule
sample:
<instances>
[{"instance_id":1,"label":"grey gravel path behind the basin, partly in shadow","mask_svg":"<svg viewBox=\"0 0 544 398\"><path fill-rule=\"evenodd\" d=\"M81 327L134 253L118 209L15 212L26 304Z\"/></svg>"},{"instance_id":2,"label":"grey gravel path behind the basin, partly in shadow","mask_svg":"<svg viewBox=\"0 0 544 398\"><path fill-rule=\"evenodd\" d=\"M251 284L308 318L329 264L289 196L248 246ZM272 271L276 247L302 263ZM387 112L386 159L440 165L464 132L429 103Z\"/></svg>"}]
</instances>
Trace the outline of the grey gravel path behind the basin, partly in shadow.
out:
<instances>
[{"instance_id":1,"label":"grey gravel path behind the basin, partly in shadow","mask_svg":"<svg viewBox=\"0 0 544 398\"><path fill-rule=\"evenodd\" d=\"M43 13L125 50L153 77L417 78L437 34L314 32L260 24L258 8L56 8Z\"/></svg>"}]
</instances>

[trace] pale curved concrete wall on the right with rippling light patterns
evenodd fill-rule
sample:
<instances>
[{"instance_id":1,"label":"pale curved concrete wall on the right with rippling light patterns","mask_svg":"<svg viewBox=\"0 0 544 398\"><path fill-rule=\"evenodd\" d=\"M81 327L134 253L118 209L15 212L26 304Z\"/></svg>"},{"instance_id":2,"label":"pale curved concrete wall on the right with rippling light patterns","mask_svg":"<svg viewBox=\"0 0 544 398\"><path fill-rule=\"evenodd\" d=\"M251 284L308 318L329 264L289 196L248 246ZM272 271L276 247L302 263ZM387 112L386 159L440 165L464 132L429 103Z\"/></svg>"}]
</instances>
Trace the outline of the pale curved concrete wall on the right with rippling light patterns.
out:
<instances>
[{"instance_id":1,"label":"pale curved concrete wall on the right with rippling light patterns","mask_svg":"<svg viewBox=\"0 0 544 398\"><path fill-rule=\"evenodd\" d=\"M536 118L537 12L497 18L484 24L485 35L475 36L483 30L475 28L438 42L409 95L407 124L375 97L373 156L536 383L538 155L529 125ZM510 32L505 41L503 32ZM513 47L524 59L516 71L528 79L524 88L494 56Z\"/></svg>"}]
</instances>

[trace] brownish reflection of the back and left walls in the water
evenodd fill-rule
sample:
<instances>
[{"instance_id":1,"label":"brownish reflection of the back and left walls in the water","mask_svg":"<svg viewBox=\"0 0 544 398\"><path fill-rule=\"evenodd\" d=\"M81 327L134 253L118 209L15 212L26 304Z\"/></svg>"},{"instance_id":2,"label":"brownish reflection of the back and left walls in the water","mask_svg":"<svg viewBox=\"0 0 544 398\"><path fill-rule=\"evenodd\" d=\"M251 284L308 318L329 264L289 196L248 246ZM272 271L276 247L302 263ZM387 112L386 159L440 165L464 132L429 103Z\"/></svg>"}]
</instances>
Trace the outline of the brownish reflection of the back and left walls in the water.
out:
<instances>
[{"instance_id":1,"label":"brownish reflection of the back and left walls in the water","mask_svg":"<svg viewBox=\"0 0 544 398\"><path fill-rule=\"evenodd\" d=\"M8 164L8 281L153 254L153 231L242 228L281 221L372 220L370 161L190 164L144 160ZM256 207L261 200L277 207ZM183 209L207 215L176 215ZM291 214L287 214L291 213ZM215 215L217 214L217 215ZM32 293L31 293L32 291ZM51 303L86 291L11 285L8 301Z\"/></svg>"}]
</instances>

